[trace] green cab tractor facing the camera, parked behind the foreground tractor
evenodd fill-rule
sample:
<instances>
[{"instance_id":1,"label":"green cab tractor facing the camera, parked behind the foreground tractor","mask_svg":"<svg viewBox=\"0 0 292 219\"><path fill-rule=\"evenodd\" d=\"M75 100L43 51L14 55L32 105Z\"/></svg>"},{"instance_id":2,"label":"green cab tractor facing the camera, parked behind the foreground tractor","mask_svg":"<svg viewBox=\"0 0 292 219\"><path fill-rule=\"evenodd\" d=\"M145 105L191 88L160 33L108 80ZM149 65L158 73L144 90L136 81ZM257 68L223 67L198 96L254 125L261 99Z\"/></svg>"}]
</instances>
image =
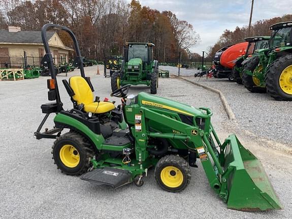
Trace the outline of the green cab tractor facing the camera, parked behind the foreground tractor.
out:
<instances>
[{"instance_id":1,"label":"green cab tractor facing the camera, parked behind the foreground tractor","mask_svg":"<svg viewBox=\"0 0 292 219\"><path fill-rule=\"evenodd\" d=\"M112 91L124 85L150 86L151 94L157 93L158 61L153 60L152 43L126 43L121 69L111 76Z\"/></svg>"}]
</instances>

